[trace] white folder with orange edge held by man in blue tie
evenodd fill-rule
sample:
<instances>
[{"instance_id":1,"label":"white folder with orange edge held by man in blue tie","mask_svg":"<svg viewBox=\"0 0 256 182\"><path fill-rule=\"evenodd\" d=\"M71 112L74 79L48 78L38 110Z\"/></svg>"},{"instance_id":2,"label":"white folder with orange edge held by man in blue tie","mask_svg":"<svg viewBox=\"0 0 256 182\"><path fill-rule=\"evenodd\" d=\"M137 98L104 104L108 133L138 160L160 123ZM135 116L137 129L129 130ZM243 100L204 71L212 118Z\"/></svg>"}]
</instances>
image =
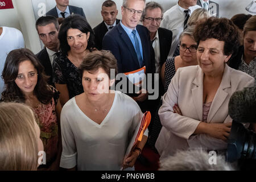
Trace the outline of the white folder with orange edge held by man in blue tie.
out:
<instances>
[{"instance_id":1,"label":"white folder with orange edge held by man in blue tie","mask_svg":"<svg viewBox=\"0 0 256 182\"><path fill-rule=\"evenodd\" d=\"M128 80L134 85L141 86L142 81L146 78L146 67L124 73Z\"/></svg>"}]
</instances>

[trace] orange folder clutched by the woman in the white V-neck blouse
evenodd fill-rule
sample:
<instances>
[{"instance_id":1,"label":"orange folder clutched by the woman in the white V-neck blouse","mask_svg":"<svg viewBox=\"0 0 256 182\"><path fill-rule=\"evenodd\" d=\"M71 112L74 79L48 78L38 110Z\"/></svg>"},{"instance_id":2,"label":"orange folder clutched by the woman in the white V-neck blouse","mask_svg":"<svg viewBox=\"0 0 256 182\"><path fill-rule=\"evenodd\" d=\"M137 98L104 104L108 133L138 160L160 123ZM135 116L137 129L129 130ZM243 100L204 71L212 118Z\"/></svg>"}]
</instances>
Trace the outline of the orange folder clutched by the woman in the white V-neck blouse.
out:
<instances>
[{"instance_id":1,"label":"orange folder clutched by the woman in the white V-neck blouse","mask_svg":"<svg viewBox=\"0 0 256 182\"><path fill-rule=\"evenodd\" d=\"M131 138L131 141L126 150L126 156L130 155L131 151L137 146L137 143L142 140L144 131L146 131L148 125L151 121L151 114L150 111L146 111L142 117L141 125L138 125L137 129L134 131L134 135Z\"/></svg>"}]
</instances>

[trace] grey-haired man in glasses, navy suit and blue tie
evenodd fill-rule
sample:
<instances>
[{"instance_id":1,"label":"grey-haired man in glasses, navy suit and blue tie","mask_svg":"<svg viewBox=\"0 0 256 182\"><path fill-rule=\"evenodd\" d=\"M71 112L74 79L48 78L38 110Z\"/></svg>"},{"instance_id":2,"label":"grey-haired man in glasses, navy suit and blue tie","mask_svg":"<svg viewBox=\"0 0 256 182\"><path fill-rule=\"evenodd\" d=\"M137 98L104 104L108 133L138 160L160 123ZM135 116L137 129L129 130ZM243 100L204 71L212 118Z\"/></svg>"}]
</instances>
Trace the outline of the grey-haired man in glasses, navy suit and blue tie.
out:
<instances>
[{"instance_id":1,"label":"grey-haired man in glasses, navy suit and blue tie","mask_svg":"<svg viewBox=\"0 0 256 182\"><path fill-rule=\"evenodd\" d=\"M135 71L144 66L146 75L155 73L154 49L151 46L149 32L146 27L138 25L144 5L144 0L123 1L122 20L104 36L102 49L112 51L117 59L118 73ZM150 109L147 98L148 92L143 89L133 97L142 111Z\"/></svg>"}]
</instances>

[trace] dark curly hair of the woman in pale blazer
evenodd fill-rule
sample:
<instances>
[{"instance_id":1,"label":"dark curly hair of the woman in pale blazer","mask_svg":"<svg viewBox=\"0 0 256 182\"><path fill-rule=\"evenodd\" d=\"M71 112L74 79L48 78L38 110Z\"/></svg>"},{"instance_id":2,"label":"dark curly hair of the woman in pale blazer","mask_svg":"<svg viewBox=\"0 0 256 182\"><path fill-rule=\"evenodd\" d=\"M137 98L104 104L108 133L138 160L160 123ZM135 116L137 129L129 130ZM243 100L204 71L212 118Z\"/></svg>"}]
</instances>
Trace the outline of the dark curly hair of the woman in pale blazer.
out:
<instances>
[{"instance_id":1,"label":"dark curly hair of the woman in pale blazer","mask_svg":"<svg viewBox=\"0 0 256 182\"><path fill-rule=\"evenodd\" d=\"M205 22L196 25L194 38L200 41L217 39L224 41L224 55L232 55L240 46L240 35L235 24L228 18L210 17Z\"/></svg>"}]
</instances>

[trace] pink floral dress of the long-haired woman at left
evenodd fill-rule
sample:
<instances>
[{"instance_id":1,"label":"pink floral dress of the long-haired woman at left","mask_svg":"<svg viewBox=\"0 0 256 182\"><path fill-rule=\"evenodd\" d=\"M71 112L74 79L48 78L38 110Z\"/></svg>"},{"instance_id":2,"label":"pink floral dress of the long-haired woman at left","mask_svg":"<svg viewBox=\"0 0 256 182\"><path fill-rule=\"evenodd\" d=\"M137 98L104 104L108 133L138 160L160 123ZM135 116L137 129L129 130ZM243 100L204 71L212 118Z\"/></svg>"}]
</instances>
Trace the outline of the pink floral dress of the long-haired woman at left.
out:
<instances>
[{"instance_id":1,"label":"pink floral dress of the long-haired woman at left","mask_svg":"<svg viewBox=\"0 0 256 182\"><path fill-rule=\"evenodd\" d=\"M51 164L57 156L59 142L59 125L57 122L56 105L59 99L59 92L51 86L53 97L49 104L39 102L33 110L38 116L40 127L40 139L43 142L46 152L46 165Z\"/></svg>"}]
</instances>

